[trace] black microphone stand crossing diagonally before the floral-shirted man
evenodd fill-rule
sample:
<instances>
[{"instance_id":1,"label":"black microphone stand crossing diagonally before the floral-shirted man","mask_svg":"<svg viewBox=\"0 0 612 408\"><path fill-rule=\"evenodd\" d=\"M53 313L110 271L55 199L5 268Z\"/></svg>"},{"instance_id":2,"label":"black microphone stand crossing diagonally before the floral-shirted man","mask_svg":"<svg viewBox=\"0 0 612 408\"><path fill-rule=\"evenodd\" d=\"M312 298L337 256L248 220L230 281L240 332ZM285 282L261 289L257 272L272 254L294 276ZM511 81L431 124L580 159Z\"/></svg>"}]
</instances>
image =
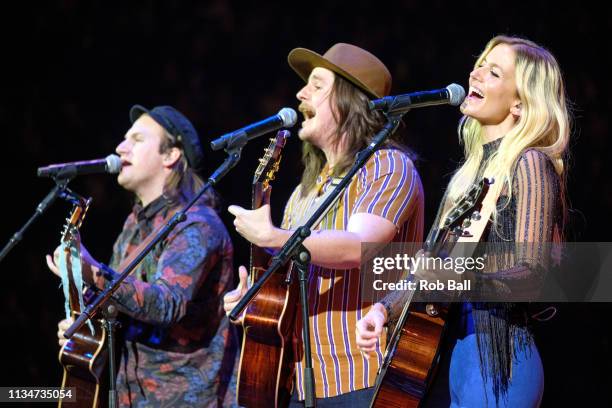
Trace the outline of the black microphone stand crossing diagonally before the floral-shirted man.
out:
<instances>
[{"instance_id":1,"label":"black microphone stand crossing diagonally before the floral-shirted man","mask_svg":"<svg viewBox=\"0 0 612 408\"><path fill-rule=\"evenodd\" d=\"M174 229L174 227L176 227L178 223L185 221L185 219L187 219L187 215L186 215L187 211L200 199L200 197L202 197L202 195L206 192L206 190L216 185L221 178L223 178L233 167L236 166L236 164L238 164L238 161L240 160L240 154L242 152L242 147L244 147L247 141L248 139L245 136L244 138L239 138L239 139L234 140L233 144L228 146L228 148L226 149L228 153L228 157L221 164L221 166L219 166L215 170L215 172L208 178L208 180L206 181L202 189L200 189L200 191L191 199L191 201L189 201L189 203L187 203L187 205L185 205L185 207L182 210L178 211L176 214L172 216L172 218L170 218L170 220L166 223L166 225L164 225L163 228L159 230L159 232L153 238L153 240L134 258L132 262L130 262L129 265L125 267L123 271L121 271L120 273L117 273L113 271L111 268L109 268L108 266L101 265L101 268L103 272L105 273L105 276L107 277L114 276L114 279L111 281L111 285L109 287L100 291L100 294L85 308L85 310L81 312L80 316L68 328L68 330L66 330L66 332L64 333L64 337L66 339L70 339L74 335L74 333L76 333L85 324L85 322L88 319L93 319L96 316L96 314L100 311L100 309L103 308L103 305L106 304L108 300L111 298L113 293L115 293L117 289L119 289L121 282L123 282L125 278L127 278L128 275L132 272L132 270L136 268L136 266L138 266L138 264L144 259L144 257L149 252L151 252L151 250L155 247L155 245L157 245L162 239L168 236L168 234L172 231L172 229ZM108 303L111 304L112 302L108 302ZM109 364L109 368L110 368L109 369L109 377L110 377L109 407L114 408L117 406L116 405L117 395L116 395L115 384L114 384L115 382L115 372L114 372L115 352L114 352L114 347L113 347L113 343L114 343L113 334L114 334L114 329L117 326L117 323L113 317L114 311L111 308L114 308L114 306L108 307L107 312L110 312L110 313L106 314L105 324L107 328L106 330L107 340L108 340L107 344L109 345L109 359L110 359L109 360L109 363L110 363Z\"/></svg>"}]
</instances>

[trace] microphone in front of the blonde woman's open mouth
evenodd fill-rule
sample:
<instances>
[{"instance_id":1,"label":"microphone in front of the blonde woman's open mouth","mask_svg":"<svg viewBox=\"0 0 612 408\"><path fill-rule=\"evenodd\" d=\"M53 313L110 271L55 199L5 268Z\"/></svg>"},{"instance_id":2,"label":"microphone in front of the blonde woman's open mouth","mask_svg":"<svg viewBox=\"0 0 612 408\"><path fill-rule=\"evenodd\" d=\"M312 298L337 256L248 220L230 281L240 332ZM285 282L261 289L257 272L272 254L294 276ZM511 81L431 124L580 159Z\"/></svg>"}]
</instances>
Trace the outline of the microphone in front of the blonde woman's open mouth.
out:
<instances>
[{"instance_id":1,"label":"microphone in front of the blonde woman's open mouth","mask_svg":"<svg viewBox=\"0 0 612 408\"><path fill-rule=\"evenodd\" d=\"M412 108L433 105L458 106L465 99L465 89L461 85L450 84L446 88L434 91L412 92L409 94L386 96L370 101L370 109L383 110L386 113L402 113Z\"/></svg>"}]
</instances>

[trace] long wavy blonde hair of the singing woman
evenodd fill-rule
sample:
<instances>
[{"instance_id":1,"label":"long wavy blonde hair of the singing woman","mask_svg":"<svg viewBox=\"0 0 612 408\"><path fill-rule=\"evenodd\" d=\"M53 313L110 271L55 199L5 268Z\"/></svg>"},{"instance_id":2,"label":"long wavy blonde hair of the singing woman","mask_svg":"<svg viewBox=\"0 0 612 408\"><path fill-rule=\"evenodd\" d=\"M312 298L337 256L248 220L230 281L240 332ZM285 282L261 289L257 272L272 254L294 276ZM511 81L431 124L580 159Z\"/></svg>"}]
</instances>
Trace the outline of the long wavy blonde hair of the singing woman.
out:
<instances>
[{"instance_id":1,"label":"long wavy blonde hair of the singing woman","mask_svg":"<svg viewBox=\"0 0 612 408\"><path fill-rule=\"evenodd\" d=\"M559 64L545 48L532 41L508 36L497 36L480 54L478 67L498 44L507 44L515 52L516 90L521 101L521 115L514 127L502 139L496 153L484 164L484 175L493 177L493 193L504 191L507 206L512 197L512 178L519 157L526 149L544 153L552 162L560 178L563 213L565 213L565 154L570 135L570 114L566 105L565 86ZM454 174L448 188L445 209L476 181L483 159L483 138L480 123L463 116L459 122L459 138L464 144L465 162ZM497 225L497 209L494 210Z\"/></svg>"}]
</instances>

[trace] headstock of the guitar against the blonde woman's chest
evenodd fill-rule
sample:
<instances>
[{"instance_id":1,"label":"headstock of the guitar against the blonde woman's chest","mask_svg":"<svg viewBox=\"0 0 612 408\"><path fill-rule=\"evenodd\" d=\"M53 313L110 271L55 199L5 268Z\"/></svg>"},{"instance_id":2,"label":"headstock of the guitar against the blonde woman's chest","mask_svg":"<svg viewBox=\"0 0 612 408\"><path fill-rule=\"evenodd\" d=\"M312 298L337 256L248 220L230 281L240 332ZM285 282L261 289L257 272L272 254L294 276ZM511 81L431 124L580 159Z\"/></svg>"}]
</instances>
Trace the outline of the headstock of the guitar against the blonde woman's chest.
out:
<instances>
[{"instance_id":1,"label":"headstock of the guitar against the blonde woman's chest","mask_svg":"<svg viewBox=\"0 0 612 408\"><path fill-rule=\"evenodd\" d=\"M483 178L477 183L474 183L468 191L455 201L453 207L446 213L442 228L450 231L458 236L466 236L468 234L466 228L471 224L472 220L480 219L480 211L482 210L482 202L489 192L489 186L493 184L493 180Z\"/></svg>"}]
</instances>

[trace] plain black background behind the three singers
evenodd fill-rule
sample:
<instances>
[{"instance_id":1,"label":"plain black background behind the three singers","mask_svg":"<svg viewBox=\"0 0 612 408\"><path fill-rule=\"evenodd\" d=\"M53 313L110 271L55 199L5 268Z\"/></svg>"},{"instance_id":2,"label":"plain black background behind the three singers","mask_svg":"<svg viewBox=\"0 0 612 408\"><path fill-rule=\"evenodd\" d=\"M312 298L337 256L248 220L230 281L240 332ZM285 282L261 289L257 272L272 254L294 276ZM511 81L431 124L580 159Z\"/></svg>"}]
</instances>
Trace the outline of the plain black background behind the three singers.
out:
<instances>
[{"instance_id":1,"label":"plain black background behind the three singers","mask_svg":"<svg viewBox=\"0 0 612 408\"><path fill-rule=\"evenodd\" d=\"M128 3L128 2L125 2ZM36 177L50 163L104 157L129 127L132 104L171 104L209 139L297 106L301 80L286 63L294 47L320 53L336 42L370 50L394 77L392 93L434 89L468 73L496 34L530 38L548 47L564 71L575 117L569 197L569 237L608 241L612 183L608 180L610 15L586 2L330 2L238 1L116 4L49 1L4 8L0 17L0 129L3 220L8 242L52 187ZM383 6L384 5L384 6ZM13 5L14 7L14 5ZM420 156L427 225L461 158L447 106L405 117L405 141ZM218 190L225 204L248 206L250 178L265 138L249 144ZM224 158L206 149L204 175ZM274 183L273 213L297 184L299 143L285 148ZM132 198L112 176L81 177L71 187L93 197L81 229L84 243L108 260ZM56 322L63 316L58 279L44 255L59 244L69 206L57 202L0 264L3 366L0 386L57 386ZM224 210L223 217L231 225ZM232 232L233 233L233 232ZM236 263L247 246L233 233ZM579 274L581 271L577 270ZM610 406L612 361L608 304L562 305L538 328L546 371L545 406Z\"/></svg>"}]
</instances>

